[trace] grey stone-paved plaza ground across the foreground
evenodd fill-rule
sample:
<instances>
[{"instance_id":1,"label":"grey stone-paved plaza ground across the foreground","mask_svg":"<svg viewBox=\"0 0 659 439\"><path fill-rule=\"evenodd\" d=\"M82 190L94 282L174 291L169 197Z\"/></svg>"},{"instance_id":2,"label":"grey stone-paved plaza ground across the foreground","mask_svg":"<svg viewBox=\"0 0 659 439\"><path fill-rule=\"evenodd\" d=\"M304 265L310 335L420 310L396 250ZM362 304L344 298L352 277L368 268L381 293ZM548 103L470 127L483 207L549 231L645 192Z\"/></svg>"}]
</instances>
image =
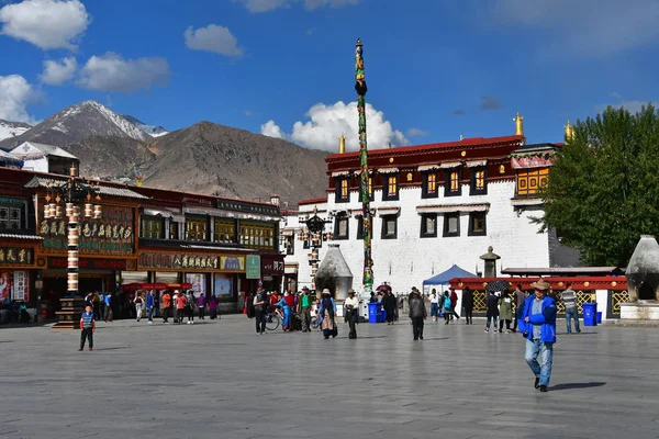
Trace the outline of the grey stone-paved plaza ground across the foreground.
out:
<instances>
[{"instance_id":1,"label":"grey stone-paved plaza ground across the foreground","mask_svg":"<svg viewBox=\"0 0 659 439\"><path fill-rule=\"evenodd\" d=\"M406 322L359 339L254 334L243 315L193 326L0 327L1 438L657 438L659 330L565 335L550 392L517 334Z\"/></svg>"}]
</instances>

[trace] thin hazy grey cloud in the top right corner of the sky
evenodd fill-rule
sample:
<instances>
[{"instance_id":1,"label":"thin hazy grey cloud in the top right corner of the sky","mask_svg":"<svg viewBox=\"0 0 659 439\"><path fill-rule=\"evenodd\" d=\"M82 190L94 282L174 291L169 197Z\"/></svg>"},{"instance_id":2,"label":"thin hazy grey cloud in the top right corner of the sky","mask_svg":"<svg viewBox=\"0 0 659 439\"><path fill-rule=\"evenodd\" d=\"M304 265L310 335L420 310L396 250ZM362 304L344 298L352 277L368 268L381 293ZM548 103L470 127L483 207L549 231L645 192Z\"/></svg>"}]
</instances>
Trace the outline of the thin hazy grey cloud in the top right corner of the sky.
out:
<instances>
[{"instance_id":1,"label":"thin hazy grey cloud in the top right corner of the sky","mask_svg":"<svg viewBox=\"0 0 659 439\"><path fill-rule=\"evenodd\" d=\"M659 38L656 0L499 0L480 10L488 23L499 22L494 26L504 22L552 34L557 56L606 56Z\"/></svg>"}]
</instances>

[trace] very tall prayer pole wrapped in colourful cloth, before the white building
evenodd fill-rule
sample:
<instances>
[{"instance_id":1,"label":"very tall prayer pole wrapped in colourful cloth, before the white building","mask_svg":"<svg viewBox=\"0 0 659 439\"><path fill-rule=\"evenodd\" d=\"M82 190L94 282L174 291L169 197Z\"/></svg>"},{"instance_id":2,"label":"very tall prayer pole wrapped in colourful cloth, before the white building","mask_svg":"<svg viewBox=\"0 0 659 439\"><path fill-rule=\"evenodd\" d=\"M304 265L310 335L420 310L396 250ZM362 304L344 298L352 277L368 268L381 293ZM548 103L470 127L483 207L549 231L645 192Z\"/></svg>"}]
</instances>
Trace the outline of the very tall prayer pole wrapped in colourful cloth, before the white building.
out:
<instances>
[{"instance_id":1,"label":"very tall prayer pole wrapped in colourful cloth, before the white building","mask_svg":"<svg viewBox=\"0 0 659 439\"><path fill-rule=\"evenodd\" d=\"M368 173L368 146L366 142L366 79L364 77L364 57L361 40L357 38L355 49L355 91L357 91L357 113L359 114L359 158L361 161L361 214L364 235L364 290L373 289L373 260L371 258L372 223L370 213L370 184Z\"/></svg>"}]
</instances>

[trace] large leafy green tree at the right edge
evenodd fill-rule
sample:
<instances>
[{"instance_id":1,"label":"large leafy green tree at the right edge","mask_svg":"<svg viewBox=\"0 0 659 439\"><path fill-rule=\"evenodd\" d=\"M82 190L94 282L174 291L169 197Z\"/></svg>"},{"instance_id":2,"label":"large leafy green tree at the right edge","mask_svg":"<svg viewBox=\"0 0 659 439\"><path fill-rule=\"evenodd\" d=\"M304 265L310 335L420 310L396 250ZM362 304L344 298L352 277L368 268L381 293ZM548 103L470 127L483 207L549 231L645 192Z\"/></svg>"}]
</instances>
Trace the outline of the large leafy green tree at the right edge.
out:
<instances>
[{"instance_id":1,"label":"large leafy green tree at the right edge","mask_svg":"<svg viewBox=\"0 0 659 439\"><path fill-rule=\"evenodd\" d=\"M556 228L591 266L626 267L640 235L659 233L659 115L608 106L578 121L540 192Z\"/></svg>"}]
</instances>

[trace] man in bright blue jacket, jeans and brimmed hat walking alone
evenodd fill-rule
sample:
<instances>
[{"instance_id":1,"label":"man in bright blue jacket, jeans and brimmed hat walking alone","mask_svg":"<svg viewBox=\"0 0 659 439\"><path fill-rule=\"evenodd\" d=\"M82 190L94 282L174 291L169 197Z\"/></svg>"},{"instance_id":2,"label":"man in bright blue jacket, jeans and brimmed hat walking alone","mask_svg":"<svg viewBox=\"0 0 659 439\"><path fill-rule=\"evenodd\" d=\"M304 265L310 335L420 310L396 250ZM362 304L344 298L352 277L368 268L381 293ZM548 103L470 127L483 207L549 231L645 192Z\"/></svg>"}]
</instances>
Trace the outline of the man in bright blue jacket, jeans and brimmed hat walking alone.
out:
<instances>
[{"instance_id":1,"label":"man in bright blue jacket, jeans and brimmed hat walking alone","mask_svg":"<svg viewBox=\"0 0 659 439\"><path fill-rule=\"evenodd\" d=\"M539 279L530 286L535 294L524 302L520 329L526 338L526 362L536 376L534 385L547 392L556 342L556 303L547 295L550 285L546 280Z\"/></svg>"}]
</instances>

